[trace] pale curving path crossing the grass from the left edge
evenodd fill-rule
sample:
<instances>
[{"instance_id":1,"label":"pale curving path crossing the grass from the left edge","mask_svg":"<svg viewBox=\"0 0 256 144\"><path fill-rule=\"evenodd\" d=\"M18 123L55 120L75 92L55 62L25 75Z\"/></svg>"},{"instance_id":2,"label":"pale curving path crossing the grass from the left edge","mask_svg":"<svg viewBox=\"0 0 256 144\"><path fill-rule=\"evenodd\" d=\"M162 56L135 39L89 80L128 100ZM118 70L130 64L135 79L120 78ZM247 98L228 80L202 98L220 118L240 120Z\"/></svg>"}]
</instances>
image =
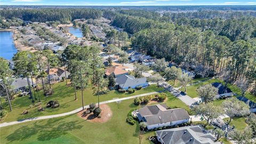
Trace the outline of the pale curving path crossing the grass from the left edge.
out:
<instances>
[{"instance_id":1,"label":"pale curving path crossing the grass from the left edge","mask_svg":"<svg viewBox=\"0 0 256 144\"><path fill-rule=\"evenodd\" d=\"M159 91L159 92L161 92L161 91ZM128 100L128 99L133 99L133 98L136 98L136 97L144 97L146 95L156 94L156 93L159 93L159 92L149 92L149 93L133 95L131 97L125 97L125 98L120 98L120 99L117 98L117 99L113 99L113 100L102 101L102 102L100 102L100 104L110 103L110 102L117 102L117 101L122 101L122 100ZM89 108L89 105L84 106L84 108ZM40 119L49 119L49 118L54 118L54 117L67 116L67 115L71 115L71 114L76 114L76 113L78 113L81 110L83 110L82 107L78 108L78 109L75 109L73 111L69 111L67 113L62 113L62 114L58 114L58 115L38 116L38 117L33 117L33 118L28 118L28 119L22 119L21 121L14 121L14 122L9 122L9 123L1 123L0 127L14 125L14 124L20 124L20 123L25 123L25 122L30 122L30 121L36 121L36 120L40 120Z\"/></svg>"}]
</instances>

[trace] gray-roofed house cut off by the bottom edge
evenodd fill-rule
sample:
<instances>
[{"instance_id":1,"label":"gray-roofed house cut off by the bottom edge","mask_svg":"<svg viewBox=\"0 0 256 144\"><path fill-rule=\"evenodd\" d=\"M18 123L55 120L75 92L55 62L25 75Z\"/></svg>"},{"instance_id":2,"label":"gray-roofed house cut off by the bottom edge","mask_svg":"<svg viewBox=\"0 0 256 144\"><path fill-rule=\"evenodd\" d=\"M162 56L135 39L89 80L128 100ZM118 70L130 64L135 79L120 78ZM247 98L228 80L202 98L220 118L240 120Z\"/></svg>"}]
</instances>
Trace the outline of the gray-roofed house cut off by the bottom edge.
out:
<instances>
[{"instance_id":1,"label":"gray-roofed house cut off by the bottom edge","mask_svg":"<svg viewBox=\"0 0 256 144\"><path fill-rule=\"evenodd\" d=\"M200 126L184 126L156 131L157 140L162 144L213 144L216 138Z\"/></svg>"}]
</instances>

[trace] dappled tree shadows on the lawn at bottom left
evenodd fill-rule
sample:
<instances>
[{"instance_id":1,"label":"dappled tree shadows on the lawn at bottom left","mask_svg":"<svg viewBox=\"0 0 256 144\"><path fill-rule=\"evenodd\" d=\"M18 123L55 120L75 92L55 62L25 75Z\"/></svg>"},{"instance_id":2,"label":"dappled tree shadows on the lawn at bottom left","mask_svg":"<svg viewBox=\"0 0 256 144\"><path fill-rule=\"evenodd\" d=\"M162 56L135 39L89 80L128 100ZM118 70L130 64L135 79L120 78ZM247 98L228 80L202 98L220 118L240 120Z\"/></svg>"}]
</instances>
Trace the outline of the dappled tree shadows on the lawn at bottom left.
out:
<instances>
[{"instance_id":1,"label":"dappled tree shadows on the lawn at bottom left","mask_svg":"<svg viewBox=\"0 0 256 144\"><path fill-rule=\"evenodd\" d=\"M71 130L82 128L82 125L78 125L81 122L65 122L63 121L65 118L51 118L46 122L46 124L35 122L33 125L22 126L15 130L12 134L8 135L6 139L10 142L22 141L37 135L37 140L49 141L51 139L59 138Z\"/></svg>"}]
</instances>

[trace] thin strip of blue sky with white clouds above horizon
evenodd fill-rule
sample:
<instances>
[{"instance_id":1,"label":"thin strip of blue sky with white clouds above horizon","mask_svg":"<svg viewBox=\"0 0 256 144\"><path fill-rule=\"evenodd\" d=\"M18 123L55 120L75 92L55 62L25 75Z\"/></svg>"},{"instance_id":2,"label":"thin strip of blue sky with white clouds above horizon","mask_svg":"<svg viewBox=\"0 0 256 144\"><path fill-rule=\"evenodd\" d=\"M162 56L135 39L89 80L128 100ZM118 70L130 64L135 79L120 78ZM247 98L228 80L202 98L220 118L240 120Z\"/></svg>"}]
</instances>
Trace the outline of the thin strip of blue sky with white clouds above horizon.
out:
<instances>
[{"instance_id":1,"label":"thin strip of blue sky with white clouds above horizon","mask_svg":"<svg viewBox=\"0 0 256 144\"><path fill-rule=\"evenodd\" d=\"M256 0L0 0L0 5L256 5Z\"/></svg>"}]
</instances>

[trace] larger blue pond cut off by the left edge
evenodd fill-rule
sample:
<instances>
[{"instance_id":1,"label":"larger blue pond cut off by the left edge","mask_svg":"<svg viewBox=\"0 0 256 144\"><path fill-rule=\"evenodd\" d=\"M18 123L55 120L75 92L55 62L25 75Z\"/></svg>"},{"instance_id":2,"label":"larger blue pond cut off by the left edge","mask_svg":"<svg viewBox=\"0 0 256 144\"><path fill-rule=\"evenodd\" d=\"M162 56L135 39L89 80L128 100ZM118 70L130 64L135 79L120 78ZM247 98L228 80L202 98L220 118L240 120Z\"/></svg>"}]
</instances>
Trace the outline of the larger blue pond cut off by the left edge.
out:
<instances>
[{"instance_id":1,"label":"larger blue pond cut off by the left edge","mask_svg":"<svg viewBox=\"0 0 256 144\"><path fill-rule=\"evenodd\" d=\"M17 53L17 49L14 46L12 31L0 31L0 57L7 60L11 60L13 54Z\"/></svg>"}]
</instances>

